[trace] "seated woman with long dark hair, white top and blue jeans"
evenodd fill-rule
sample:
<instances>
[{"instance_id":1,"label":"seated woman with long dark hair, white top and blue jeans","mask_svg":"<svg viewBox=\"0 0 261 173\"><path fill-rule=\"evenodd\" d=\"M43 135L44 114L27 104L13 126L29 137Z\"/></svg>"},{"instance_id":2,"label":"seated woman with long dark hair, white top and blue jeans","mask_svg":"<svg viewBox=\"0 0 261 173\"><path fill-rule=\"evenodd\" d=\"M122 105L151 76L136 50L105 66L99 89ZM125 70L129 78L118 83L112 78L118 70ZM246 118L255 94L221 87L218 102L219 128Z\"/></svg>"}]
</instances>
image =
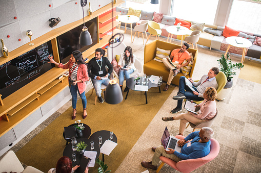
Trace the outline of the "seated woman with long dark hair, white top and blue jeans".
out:
<instances>
[{"instance_id":1,"label":"seated woman with long dark hair, white top and blue jeans","mask_svg":"<svg viewBox=\"0 0 261 173\"><path fill-rule=\"evenodd\" d=\"M132 54L132 48L131 46L127 46L124 50L124 53L121 54L121 58L119 58L118 66L119 68L125 68L119 70L119 86L123 90L123 81L124 76L126 81L130 79L130 74L133 73L136 68L134 66L136 56ZM128 91L128 87L124 89L124 92Z\"/></svg>"}]
</instances>

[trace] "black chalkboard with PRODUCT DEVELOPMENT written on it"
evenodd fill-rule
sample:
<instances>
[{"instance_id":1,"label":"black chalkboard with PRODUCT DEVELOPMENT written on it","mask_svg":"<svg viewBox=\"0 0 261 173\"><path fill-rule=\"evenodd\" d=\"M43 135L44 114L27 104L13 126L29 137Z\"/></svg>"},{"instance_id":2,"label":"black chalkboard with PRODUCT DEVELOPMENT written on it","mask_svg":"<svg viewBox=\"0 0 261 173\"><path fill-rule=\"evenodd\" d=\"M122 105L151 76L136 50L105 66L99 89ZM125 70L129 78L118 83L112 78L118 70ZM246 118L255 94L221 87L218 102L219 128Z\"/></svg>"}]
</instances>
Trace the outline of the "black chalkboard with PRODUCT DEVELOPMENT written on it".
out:
<instances>
[{"instance_id":1,"label":"black chalkboard with PRODUCT DEVELOPMENT written on it","mask_svg":"<svg viewBox=\"0 0 261 173\"><path fill-rule=\"evenodd\" d=\"M2 99L22 88L54 67L47 63L52 55L52 44L48 41L0 65L0 94Z\"/></svg>"}]
</instances>

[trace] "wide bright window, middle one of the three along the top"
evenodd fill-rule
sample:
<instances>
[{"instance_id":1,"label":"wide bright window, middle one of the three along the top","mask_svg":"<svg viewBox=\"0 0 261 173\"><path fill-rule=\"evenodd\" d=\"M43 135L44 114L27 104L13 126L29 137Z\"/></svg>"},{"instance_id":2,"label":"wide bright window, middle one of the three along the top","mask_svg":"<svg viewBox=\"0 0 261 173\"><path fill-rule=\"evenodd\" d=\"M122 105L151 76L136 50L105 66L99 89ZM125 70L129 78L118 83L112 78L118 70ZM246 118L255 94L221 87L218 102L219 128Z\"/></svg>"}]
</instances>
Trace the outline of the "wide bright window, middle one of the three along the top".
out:
<instances>
[{"instance_id":1,"label":"wide bright window, middle one of the three along the top","mask_svg":"<svg viewBox=\"0 0 261 173\"><path fill-rule=\"evenodd\" d=\"M180 19L213 24L218 0L172 0L170 14Z\"/></svg>"}]
</instances>

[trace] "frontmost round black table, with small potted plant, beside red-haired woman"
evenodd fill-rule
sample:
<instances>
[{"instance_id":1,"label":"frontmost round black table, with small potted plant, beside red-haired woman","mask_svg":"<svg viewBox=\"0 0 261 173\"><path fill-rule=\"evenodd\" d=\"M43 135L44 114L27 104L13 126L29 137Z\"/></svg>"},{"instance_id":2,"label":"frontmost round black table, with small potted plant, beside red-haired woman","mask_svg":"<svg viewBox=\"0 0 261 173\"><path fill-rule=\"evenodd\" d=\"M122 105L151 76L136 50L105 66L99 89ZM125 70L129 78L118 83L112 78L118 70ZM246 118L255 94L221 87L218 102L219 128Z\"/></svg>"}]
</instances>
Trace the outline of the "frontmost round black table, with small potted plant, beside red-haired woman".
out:
<instances>
[{"instance_id":1,"label":"frontmost round black table, with small potted plant, beside red-haired woman","mask_svg":"<svg viewBox=\"0 0 261 173\"><path fill-rule=\"evenodd\" d=\"M96 151L97 152L97 155L96 155L96 158L95 158L95 161L96 161L97 158L99 157L99 153L100 153L99 143L97 143L93 139L87 139L87 138L77 139L77 142L80 142L80 141L85 141L85 143L88 144L88 146L86 147L85 151ZM93 150L91 150L91 141L94 141L94 149ZM76 154L76 162L74 162L72 160L72 154L73 153ZM75 166L75 165L79 164L79 162L81 161L81 159L84 156L84 154L80 154L80 152L73 151L72 150L72 143L69 143L68 145L66 145L66 147L64 149L63 156L69 157L71 159L71 161L72 161L72 165Z\"/></svg>"}]
</instances>

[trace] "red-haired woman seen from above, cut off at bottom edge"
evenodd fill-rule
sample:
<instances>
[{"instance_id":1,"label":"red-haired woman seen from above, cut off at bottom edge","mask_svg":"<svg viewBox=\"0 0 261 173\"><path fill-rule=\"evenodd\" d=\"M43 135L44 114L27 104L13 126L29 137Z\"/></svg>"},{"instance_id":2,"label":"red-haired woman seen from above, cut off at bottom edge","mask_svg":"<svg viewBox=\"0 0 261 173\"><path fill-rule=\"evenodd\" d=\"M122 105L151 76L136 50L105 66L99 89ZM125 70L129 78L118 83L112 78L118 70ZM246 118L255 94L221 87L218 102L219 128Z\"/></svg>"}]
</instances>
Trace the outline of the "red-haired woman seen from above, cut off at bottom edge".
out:
<instances>
[{"instance_id":1,"label":"red-haired woman seen from above, cut off at bottom edge","mask_svg":"<svg viewBox=\"0 0 261 173\"><path fill-rule=\"evenodd\" d=\"M79 165L76 165L72 168L72 161L69 157L61 157L57 163L55 168L51 168L48 173L71 173L74 172ZM84 173L88 173L89 168L85 168Z\"/></svg>"}]
</instances>

